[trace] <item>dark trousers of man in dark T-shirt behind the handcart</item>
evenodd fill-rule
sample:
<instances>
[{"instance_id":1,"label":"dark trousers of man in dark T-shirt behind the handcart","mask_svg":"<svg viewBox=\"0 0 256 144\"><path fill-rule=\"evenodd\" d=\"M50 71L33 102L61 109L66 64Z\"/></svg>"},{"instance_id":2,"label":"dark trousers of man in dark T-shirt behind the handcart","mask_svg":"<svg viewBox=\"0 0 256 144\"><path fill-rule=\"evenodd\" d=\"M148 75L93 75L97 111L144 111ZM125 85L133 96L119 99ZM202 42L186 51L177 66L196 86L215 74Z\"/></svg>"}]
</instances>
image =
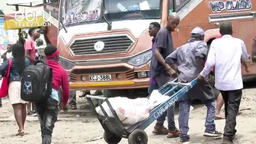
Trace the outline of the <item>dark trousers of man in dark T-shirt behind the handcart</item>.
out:
<instances>
[{"instance_id":1,"label":"dark trousers of man in dark T-shirt behind the handcart","mask_svg":"<svg viewBox=\"0 0 256 144\"><path fill-rule=\"evenodd\" d=\"M158 84L158 87L162 87L162 85L165 85L166 82L171 81L172 78L168 74L160 74L155 76L155 81ZM162 116L158 117L156 126L163 126L165 123L165 117L168 117L168 129L169 130L176 130L175 121L174 121L174 107L175 104L168 108L168 110L165 111L165 113L162 114Z\"/></svg>"}]
</instances>

